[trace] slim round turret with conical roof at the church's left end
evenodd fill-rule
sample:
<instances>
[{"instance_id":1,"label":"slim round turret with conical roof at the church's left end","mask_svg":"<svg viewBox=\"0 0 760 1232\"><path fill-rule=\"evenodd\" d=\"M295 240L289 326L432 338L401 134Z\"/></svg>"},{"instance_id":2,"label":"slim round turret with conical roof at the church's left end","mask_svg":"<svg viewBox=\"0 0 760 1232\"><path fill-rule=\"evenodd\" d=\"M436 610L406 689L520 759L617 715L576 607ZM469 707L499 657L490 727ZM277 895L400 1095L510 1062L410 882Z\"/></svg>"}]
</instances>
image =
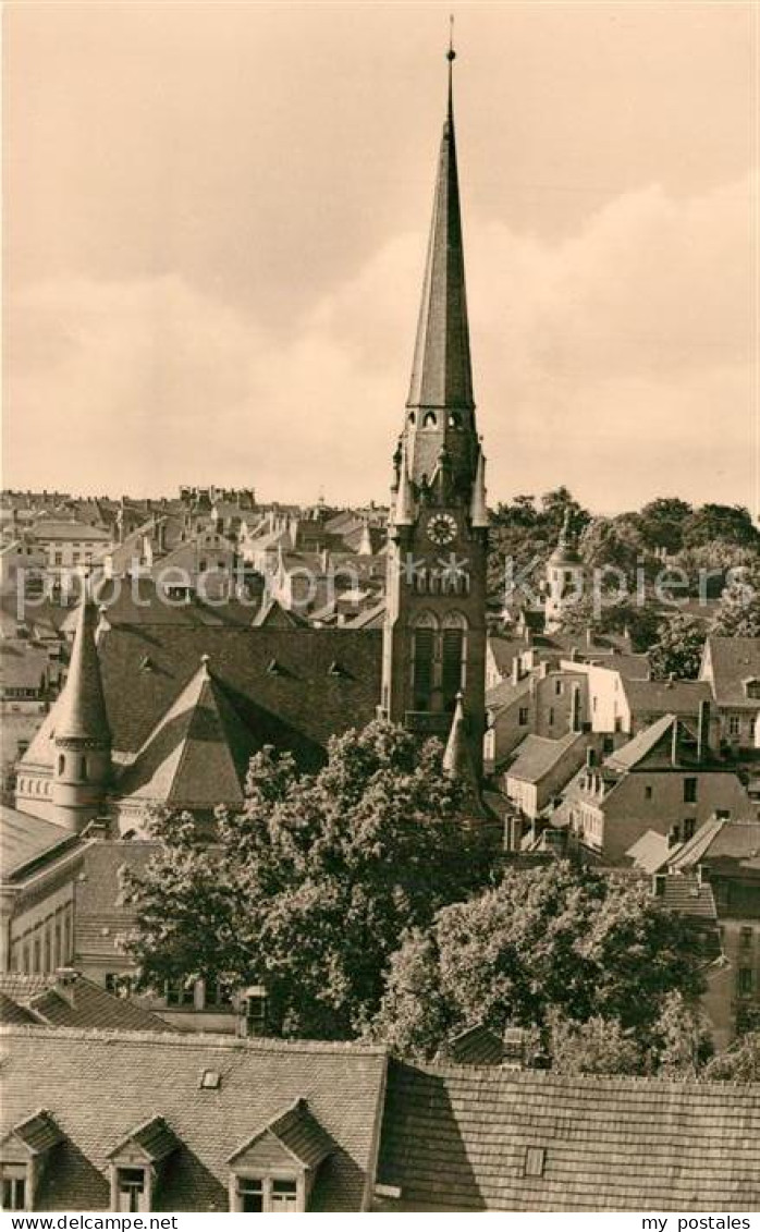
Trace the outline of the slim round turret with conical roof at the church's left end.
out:
<instances>
[{"instance_id":1,"label":"slim round turret with conical roof at the church's left end","mask_svg":"<svg viewBox=\"0 0 760 1232\"><path fill-rule=\"evenodd\" d=\"M54 819L79 833L103 808L111 777L111 732L95 644L97 611L83 583L69 675L55 723Z\"/></svg>"}]
</instances>

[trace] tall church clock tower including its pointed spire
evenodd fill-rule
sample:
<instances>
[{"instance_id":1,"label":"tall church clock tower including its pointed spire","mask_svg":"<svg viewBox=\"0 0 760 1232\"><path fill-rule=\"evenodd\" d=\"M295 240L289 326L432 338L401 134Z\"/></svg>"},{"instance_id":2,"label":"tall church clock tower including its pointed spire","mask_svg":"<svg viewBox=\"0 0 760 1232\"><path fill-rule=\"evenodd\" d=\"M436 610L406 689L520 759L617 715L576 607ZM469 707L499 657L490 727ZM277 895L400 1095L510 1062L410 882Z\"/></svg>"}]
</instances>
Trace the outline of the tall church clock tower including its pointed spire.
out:
<instances>
[{"instance_id":1,"label":"tall church clock tower including its pointed spire","mask_svg":"<svg viewBox=\"0 0 760 1232\"><path fill-rule=\"evenodd\" d=\"M437 165L411 383L394 457L382 712L426 736L455 713L479 775L485 727L485 458L475 428L457 148Z\"/></svg>"}]
</instances>

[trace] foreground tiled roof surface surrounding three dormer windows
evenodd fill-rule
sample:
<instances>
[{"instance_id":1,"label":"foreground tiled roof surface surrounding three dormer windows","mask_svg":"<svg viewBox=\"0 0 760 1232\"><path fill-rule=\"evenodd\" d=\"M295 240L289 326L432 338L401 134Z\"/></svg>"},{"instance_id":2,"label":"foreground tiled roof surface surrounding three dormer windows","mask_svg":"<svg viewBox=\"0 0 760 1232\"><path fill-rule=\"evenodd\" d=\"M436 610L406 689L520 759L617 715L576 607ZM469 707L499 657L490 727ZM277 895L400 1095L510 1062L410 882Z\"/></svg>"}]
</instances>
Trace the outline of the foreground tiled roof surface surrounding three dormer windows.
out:
<instances>
[{"instance_id":1,"label":"foreground tiled roof surface surrounding three dormer windows","mask_svg":"<svg viewBox=\"0 0 760 1232\"><path fill-rule=\"evenodd\" d=\"M227 1210L230 1157L297 1099L335 1145L317 1173L310 1209L363 1206L382 1112L383 1048L42 1027L5 1029L2 1036L0 1137L39 1106L64 1135L39 1210L107 1209L110 1154L155 1116L181 1143L161 1206ZM206 1069L219 1074L216 1089L201 1087Z\"/></svg>"}]
</instances>

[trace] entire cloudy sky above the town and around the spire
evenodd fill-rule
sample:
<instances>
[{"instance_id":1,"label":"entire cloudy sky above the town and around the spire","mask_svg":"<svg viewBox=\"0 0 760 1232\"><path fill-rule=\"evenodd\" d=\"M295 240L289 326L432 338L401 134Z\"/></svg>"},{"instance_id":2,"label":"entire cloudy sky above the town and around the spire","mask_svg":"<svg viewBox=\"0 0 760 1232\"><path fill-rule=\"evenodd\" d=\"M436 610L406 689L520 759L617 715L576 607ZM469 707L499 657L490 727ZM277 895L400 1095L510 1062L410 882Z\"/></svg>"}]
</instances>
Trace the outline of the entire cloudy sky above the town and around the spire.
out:
<instances>
[{"instance_id":1,"label":"entire cloudy sky above the town and around the spire","mask_svg":"<svg viewBox=\"0 0 760 1232\"><path fill-rule=\"evenodd\" d=\"M387 499L450 7L6 2L6 487ZM756 513L760 10L455 17L489 501Z\"/></svg>"}]
</instances>

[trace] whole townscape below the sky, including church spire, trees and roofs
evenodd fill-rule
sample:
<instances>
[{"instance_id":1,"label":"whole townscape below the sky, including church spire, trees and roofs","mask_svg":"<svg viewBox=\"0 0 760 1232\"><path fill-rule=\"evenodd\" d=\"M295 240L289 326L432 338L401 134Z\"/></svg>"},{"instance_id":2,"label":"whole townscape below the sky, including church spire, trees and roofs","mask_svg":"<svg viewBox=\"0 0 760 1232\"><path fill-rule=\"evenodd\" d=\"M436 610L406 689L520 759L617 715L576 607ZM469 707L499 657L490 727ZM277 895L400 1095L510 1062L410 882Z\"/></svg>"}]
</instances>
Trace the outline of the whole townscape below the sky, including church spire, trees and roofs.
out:
<instances>
[{"instance_id":1,"label":"whole townscape below the sky, including church spire, trees and roofs","mask_svg":"<svg viewBox=\"0 0 760 1232\"><path fill-rule=\"evenodd\" d=\"M489 499L452 59L387 506L1 495L4 1209L760 1204L760 533Z\"/></svg>"}]
</instances>

